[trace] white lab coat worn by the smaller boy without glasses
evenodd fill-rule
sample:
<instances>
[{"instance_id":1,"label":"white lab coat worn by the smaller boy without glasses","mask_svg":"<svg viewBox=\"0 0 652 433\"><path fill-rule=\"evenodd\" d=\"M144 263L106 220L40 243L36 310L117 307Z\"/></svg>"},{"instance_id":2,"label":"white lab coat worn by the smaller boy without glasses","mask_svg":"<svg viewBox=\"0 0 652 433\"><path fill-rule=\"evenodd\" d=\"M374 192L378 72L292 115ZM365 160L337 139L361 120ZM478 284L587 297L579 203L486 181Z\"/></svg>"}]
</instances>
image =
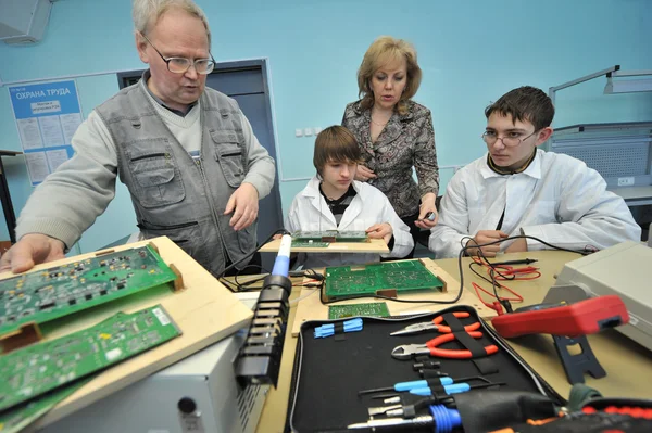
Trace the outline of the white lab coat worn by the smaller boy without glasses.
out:
<instances>
[{"instance_id":1,"label":"white lab coat worn by the smaller boy without glasses","mask_svg":"<svg viewBox=\"0 0 652 433\"><path fill-rule=\"evenodd\" d=\"M339 227L326 200L319 192L321 180L313 177L290 206L286 229L294 231L364 231L375 224L389 222L393 230L394 244L383 257L404 257L414 246L410 228L399 218L387 196L376 187L353 181L355 196L344 211ZM300 255L304 268L321 268L378 262L379 255L372 253L309 253Z\"/></svg>"}]
</instances>

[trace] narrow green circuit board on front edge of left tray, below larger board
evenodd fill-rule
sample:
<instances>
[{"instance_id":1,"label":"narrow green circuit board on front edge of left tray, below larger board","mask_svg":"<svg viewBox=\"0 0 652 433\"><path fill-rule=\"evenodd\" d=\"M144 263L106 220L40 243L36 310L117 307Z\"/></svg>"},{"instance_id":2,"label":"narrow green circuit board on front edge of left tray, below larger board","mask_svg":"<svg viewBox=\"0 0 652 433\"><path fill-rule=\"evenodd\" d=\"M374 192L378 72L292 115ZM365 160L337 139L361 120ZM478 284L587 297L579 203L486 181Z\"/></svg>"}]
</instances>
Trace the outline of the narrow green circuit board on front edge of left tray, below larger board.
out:
<instances>
[{"instance_id":1,"label":"narrow green circuit board on front edge of left tray, below larger board","mask_svg":"<svg viewBox=\"0 0 652 433\"><path fill-rule=\"evenodd\" d=\"M161 305L0 356L0 411L123 361L181 332Z\"/></svg>"}]
</instances>

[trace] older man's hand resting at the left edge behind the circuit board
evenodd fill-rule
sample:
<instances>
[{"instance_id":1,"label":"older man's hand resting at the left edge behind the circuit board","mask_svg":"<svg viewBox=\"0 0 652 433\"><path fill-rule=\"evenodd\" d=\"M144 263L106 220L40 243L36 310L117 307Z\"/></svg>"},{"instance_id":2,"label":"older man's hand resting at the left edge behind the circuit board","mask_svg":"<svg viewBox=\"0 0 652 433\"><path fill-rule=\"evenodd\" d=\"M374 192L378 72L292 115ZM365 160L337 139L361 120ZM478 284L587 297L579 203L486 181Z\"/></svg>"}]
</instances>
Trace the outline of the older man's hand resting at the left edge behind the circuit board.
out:
<instances>
[{"instance_id":1,"label":"older man's hand resting at the left edge behind the circuit board","mask_svg":"<svg viewBox=\"0 0 652 433\"><path fill-rule=\"evenodd\" d=\"M25 234L0 258L0 272L24 272L35 265L64 258L64 244L46 234Z\"/></svg>"}]
</instances>

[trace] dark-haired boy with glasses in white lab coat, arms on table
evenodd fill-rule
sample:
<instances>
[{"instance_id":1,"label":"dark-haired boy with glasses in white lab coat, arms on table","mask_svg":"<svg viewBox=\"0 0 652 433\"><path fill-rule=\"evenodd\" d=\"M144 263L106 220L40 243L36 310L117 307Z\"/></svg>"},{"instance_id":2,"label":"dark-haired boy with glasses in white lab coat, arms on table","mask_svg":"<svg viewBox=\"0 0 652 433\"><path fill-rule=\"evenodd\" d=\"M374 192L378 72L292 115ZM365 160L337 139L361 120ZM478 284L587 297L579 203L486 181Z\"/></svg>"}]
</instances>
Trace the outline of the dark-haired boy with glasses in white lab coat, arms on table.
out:
<instances>
[{"instance_id":1,"label":"dark-haired boy with glasses in white lab coat, arms on table","mask_svg":"<svg viewBox=\"0 0 652 433\"><path fill-rule=\"evenodd\" d=\"M488 153L453 176L441 200L439 225L431 229L429 249L437 258L456 257L468 246L527 234L565 249L605 249L639 241L640 227L618 195L592 168L565 154L537 147L552 133L554 107L540 89L514 89L485 110L482 139ZM466 241L464 238L472 237ZM531 239L490 246L493 257L543 250ZM467 251L478 254L477 249Z\"/></svg>"}]
</instances>

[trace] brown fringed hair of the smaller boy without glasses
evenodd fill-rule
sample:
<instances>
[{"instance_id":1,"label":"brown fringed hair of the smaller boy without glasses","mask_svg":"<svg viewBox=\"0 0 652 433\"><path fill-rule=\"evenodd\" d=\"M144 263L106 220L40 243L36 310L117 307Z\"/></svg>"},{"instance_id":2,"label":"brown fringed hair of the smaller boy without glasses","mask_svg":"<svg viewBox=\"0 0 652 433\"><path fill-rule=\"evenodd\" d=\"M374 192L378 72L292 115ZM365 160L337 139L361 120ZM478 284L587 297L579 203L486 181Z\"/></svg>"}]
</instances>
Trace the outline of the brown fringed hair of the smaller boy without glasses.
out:
<instances>
[{"instance_id":1,"label":"brown fringed hair of the smaller boy without glasses","mask_svg":"<svg viewBox=\"0 0 652 433\"><path fill-rule=\"evenodd\" d=\"M327 163L354 163L362 160L358 140L343 126L335 125L324 129L315 140L313 164L318 174Z\"/></svg>"}]
</instances>

